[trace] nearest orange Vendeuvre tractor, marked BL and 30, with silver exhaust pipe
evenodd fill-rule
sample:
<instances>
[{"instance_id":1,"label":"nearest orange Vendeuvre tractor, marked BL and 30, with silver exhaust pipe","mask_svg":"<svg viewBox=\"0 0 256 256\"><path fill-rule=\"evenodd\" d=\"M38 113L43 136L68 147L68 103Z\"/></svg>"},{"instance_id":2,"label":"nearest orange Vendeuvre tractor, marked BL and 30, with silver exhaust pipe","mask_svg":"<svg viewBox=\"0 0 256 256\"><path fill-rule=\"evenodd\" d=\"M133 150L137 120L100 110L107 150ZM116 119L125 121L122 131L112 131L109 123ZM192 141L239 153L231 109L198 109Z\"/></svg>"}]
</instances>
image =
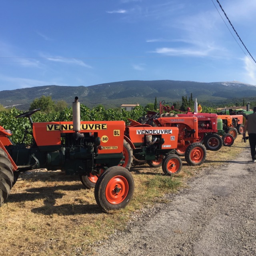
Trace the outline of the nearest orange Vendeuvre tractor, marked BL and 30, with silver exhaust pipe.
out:
<instances>
[{"instance_id":1,"label":"nearest orange Vendeuvre tractor, marked BL and 30, with silver exhaust pipe","mask_svg":"<svg viewBox=\"0 0 256 256\"><path fill-rule=\"evenodd\" d=\"M86 181L96 176L97 204L106 211L124 208L134 193L132 175L118 166L125 163L122 162L125 122L80 122L77 97L73 102L73 122L33 123L31 116L38 110L16 116L30 120L33 131L30 145L12 143L12 132L0 126L0 206L20 172L47 168L62 170L67 175L80 175Z\"/></svg>"}]
</instances>

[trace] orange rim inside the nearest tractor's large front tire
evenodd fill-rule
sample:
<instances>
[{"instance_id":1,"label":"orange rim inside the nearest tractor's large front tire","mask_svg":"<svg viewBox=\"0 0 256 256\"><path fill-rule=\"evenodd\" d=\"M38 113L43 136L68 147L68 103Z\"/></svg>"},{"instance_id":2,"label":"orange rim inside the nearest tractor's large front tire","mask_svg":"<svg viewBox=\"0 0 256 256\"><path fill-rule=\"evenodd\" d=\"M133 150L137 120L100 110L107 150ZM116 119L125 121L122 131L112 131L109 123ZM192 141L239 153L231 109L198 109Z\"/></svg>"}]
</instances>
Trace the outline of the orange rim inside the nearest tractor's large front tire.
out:
<instances>
[{"instance_id":1,"label":"orange rim inside the nearest tractor's large front tire","mask_svg":"<svg viewBox=\"0 0 256 256\"><path fill-rule=\"evenodd\" d=\"M128 195L129 184L124 176L114 176L106 186L106 199L110 204L120 204Z\"/></svg>"}]
</instances>

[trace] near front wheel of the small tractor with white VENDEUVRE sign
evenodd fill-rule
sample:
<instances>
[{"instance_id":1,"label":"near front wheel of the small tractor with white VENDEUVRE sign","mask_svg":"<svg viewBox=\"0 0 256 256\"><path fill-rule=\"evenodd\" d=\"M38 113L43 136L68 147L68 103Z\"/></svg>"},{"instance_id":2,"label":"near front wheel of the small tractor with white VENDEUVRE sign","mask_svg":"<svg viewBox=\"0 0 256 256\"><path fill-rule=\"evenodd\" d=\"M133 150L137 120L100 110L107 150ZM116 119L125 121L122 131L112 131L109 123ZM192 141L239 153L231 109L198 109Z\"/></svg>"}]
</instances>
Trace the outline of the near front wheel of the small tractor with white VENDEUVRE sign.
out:
<instances>
[{"instance_id":1,"label":"near front wheel of the small tractor with white VENDEUVRE sign","mask_svg":"<svg viewBox=\"0 0 256 256\"><path fill-rule=\"evenodd\" d=\"M169 154L162 163L162 170L166 175L173 175L180 172L182 169L182 161L176 154Z\"/></svg>"}]
</instances>

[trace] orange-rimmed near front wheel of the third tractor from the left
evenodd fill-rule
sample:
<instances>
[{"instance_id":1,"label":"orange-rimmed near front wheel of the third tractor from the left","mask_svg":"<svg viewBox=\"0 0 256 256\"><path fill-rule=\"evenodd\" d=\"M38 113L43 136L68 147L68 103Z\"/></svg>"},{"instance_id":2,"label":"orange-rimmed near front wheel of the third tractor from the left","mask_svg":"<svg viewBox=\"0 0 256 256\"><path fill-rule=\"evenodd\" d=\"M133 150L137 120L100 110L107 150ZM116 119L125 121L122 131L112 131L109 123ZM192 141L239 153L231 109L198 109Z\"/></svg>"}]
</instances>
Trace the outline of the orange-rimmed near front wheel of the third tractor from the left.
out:
<instances>
[{"instance_id":1,"label":"orange-rimmed near front wheel of the third tractor from the left","mask_svg":"<svg viewBox=\"0 0 256 256\"><path fill-rule=\"evenodd\" d=\"M189 165L201 165L206 158L206 148L200 142L194 142L188 146L185 152L185 160Z\"/></svg>"}]
</instances>

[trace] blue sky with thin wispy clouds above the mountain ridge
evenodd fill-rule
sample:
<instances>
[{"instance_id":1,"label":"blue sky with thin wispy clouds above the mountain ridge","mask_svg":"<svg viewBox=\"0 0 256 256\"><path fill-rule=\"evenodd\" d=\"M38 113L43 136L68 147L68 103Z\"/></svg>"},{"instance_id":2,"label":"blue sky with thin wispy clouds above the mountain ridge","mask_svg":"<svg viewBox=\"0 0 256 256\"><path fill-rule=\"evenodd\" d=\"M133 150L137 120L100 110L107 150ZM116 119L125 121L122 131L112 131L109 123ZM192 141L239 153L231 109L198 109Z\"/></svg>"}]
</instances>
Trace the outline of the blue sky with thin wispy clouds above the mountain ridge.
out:
<instances>
[{"instance_id":1,"label":"blue sky with thin wispy clouds above the mountain ridge","mask_svg":"<svg viewBox=\"0 0 256 256\"><path fill-rule=\"evenodd\" d=\"M256 1L219 2L256 59ZM256 85L256 63L216 0L0 0L0 24L0 90L124 80Z\"/></svg>"}]
</instances>

